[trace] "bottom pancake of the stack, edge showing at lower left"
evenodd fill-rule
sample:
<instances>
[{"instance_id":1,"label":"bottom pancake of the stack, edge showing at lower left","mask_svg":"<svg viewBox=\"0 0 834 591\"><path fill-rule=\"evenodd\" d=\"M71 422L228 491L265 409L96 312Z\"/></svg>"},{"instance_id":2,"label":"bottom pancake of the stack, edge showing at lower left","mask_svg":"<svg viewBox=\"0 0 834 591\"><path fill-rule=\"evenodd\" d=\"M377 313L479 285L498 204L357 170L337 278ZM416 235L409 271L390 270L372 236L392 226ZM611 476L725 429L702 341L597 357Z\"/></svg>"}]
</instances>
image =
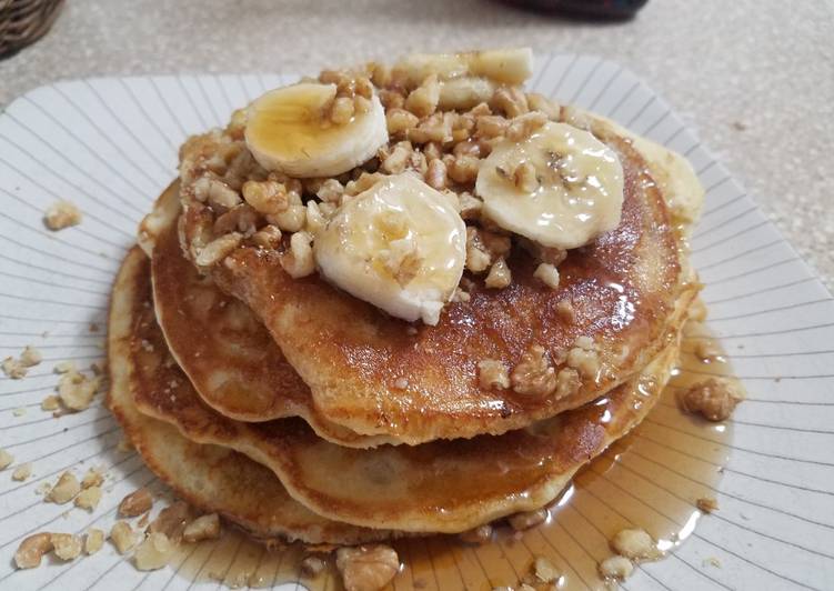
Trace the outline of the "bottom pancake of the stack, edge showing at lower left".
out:
<instances>
[{"instance_id":1,"label":"bottom pancake of the stack, edge showing at lower left","mask_svg":"<svg viewBox=\"0 0 834 591\"><path fill-rule=\"evenodd\" d=\"M394 532L356 528L324 519L294 501L275 474L225 447L189 441L172 425L140 413L131 382L137 373L131 332L147 302L149 261L132 249L117 277L110 307L108 405L145 464L180 497L217 512L258 538L353 544L390 539ZM139 288L139 289L138 289Z\"/></svg>"}]
</instances>

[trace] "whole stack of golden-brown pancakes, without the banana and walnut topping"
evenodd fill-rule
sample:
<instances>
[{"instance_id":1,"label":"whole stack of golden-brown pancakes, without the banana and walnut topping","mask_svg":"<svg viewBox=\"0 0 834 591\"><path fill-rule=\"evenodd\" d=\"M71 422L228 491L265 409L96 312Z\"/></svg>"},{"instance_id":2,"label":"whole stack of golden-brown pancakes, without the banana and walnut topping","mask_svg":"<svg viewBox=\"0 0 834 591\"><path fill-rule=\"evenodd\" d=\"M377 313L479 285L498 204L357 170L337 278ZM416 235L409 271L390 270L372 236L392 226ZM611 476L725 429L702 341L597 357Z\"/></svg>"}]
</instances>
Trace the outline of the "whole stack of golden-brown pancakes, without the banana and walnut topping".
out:
<instances>
[{"instance_id":1,"label":"whole stack of golden-brown pancakes, without the banana and walnut topping","mask_svg":"<svg viewBox=\"0 0 834 591\"><path fill-rule=\"evenodd\" d=\"M557 289L520 254L438 325L408 323L240 248L201 274L178 184L142 224L110 311L109 404L181 497L253 537L356 544L456 533L552 502L636 425L677 357L703 192L681 157L595 119L623 164L622 221L570 251ZM561 301L571 302L571 314ZM484 389L531 343L593 340L603 368L561 399Z\"/></svg>"}]
</instances>

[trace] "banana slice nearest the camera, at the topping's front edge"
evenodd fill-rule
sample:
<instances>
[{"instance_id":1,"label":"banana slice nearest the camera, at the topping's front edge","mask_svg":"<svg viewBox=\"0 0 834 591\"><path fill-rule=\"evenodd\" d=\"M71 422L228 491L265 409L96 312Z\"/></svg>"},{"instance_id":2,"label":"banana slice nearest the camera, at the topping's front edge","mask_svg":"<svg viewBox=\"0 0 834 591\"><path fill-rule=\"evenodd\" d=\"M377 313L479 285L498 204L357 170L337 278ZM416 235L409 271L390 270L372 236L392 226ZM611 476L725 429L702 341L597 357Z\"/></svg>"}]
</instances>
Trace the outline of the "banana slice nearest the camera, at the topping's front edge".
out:
<instances>
[{"instance_id":1,"label":"banana slice nearest the camera, at the topping's front edge","mask_svg":"<svg viewBox=\"0 0 834 591\"><path fill-rule=\"evenodd\" d=\"M391 315L436 324L466 258L466 228L449 199L410 172L343 204L319 233L320 272Z\"/></svg>"}]
</instances>

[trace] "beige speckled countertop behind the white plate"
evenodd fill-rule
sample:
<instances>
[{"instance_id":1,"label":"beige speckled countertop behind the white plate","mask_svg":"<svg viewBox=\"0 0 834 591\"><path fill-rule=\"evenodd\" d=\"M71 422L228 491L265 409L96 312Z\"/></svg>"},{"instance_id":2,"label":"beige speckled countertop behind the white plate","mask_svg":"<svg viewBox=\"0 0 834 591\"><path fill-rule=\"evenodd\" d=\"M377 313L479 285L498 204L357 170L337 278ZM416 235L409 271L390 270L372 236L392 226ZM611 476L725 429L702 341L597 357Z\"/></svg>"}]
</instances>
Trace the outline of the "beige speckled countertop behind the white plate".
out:
<instances>
[{"instance_id":1,"label":"beige speckled countertop behind the white plate","mask_svg":"<svg viewBox=\"0 0 834 591\"><path fill-rule=\"evenodd\" d=\"M0 106L86 76L315 72L513 44L593 53L660 91L834 288L832 31L832 0L652 0L607 24L495 0L72 0L44 39L0 61Z\"/></svg>"}]
</instances>

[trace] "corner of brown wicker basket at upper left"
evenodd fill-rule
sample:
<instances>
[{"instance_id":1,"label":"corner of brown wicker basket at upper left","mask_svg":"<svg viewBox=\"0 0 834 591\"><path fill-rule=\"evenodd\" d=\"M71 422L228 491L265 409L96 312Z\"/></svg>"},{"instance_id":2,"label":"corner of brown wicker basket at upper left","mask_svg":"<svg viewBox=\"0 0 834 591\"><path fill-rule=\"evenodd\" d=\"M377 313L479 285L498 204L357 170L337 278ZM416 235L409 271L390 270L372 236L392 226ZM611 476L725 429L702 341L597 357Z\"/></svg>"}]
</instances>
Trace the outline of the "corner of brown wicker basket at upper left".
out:
<instances>
[{"instance_id":1,"label":"corner of brown wicker basket at upper left","mask_svg":"<svg viewBox=\"0 0 834 591\"><path fill-rule=\"evenodd\" d=\"M40 39L62 4L63 0L0 0L0 59Z\"/></svg>"}]
</instances>

